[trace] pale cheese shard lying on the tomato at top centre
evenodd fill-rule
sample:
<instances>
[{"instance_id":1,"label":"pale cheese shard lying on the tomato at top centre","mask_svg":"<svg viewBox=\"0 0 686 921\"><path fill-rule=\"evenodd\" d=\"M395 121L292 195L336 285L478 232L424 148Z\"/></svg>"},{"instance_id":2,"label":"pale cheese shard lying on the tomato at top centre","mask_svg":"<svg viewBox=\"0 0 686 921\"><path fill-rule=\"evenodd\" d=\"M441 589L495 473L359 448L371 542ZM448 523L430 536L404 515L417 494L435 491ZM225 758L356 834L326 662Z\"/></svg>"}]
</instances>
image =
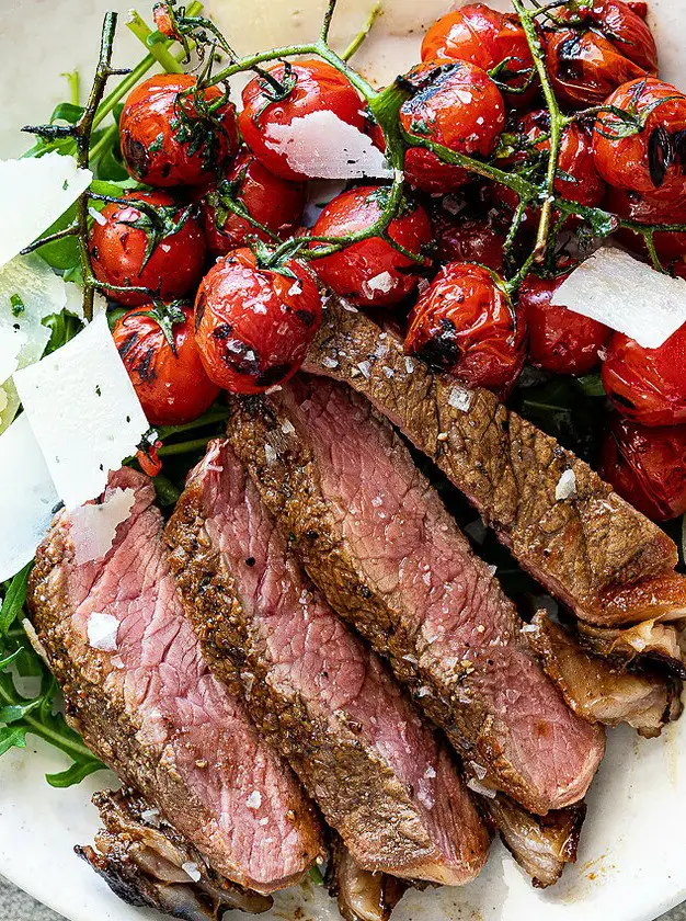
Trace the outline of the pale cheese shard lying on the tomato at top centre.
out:
<instances>
[{"instance_id":1,"label":"pale cheese shard lying on the tomato at top centre","mask_svg":"<svg viewBox=\"0 0 686 921\"><path fill-rule=\"evenodd\" d=\"M390 179L384 154L371 138L330 110L308 112L289 124L270 124L267 147L282 152L295 172L312 179Z\"/></svg>"}]
</instances>

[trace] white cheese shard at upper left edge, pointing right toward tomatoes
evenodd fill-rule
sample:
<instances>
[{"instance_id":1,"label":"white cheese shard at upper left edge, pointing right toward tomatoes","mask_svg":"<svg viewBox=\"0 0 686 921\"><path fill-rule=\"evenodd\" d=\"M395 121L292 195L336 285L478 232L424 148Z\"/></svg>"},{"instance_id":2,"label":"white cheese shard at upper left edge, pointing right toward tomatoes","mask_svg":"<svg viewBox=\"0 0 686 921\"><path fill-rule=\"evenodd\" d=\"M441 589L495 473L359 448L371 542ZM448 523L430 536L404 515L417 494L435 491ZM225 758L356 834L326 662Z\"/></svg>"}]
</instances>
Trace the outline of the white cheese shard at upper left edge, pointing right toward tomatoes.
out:
<instances>
[{"instance_id":1,"label":"white cheese shard at upper left edge, pointing right toward tomatoes","mask_svg":"<svg viewBox=\"0 0 686 921\"><path fill-rule=\"evenodd\" d=\"M55 224L92 179L73 157L60 154L0 160L0 265Z\"/></svg>"}]
</instances>

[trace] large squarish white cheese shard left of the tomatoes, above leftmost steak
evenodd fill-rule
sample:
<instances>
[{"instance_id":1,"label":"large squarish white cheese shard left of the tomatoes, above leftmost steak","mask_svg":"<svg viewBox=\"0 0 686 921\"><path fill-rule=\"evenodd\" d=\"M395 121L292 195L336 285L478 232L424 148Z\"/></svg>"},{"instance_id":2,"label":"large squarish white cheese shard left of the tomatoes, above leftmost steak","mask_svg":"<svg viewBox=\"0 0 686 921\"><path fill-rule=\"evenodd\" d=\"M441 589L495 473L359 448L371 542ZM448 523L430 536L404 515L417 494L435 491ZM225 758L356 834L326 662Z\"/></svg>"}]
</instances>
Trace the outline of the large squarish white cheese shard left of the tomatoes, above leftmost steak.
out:
<instances>
[{"instance_id":1,"label":"large squarish white cheese shard left of the tomatoes, above leftmost steak","mask_svg":"<svg viewBox=\"0 0 686 921\"><path fill-rule=\"evenodd\" d=\"M70 342L14 375L36 440L68 509L100 496L136 453L148 421L98 316Z\"/></svg>"}]
</instances>

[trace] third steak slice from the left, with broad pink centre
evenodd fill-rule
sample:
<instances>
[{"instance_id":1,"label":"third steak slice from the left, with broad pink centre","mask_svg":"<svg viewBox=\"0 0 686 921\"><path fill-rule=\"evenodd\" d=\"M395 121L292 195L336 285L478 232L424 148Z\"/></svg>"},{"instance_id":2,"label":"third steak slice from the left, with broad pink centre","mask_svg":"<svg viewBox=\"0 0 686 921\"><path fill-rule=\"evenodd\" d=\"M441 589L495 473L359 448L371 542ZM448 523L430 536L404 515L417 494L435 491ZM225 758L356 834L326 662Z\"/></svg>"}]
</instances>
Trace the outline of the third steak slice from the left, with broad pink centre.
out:
<instances>
[{"instance_id":1,"label":"third steak slice from the left, with broad pink centre","mask_svg":"<svg viewBox=\"0 0 686 921\"><path fill-rule=\"evenodd\" d=\"M542 673L492 570L386 420L321 378L231 406L231 445L282 533L467 772L537 814L581 799L603 731Z\"/></svg>"}]
</instances>

